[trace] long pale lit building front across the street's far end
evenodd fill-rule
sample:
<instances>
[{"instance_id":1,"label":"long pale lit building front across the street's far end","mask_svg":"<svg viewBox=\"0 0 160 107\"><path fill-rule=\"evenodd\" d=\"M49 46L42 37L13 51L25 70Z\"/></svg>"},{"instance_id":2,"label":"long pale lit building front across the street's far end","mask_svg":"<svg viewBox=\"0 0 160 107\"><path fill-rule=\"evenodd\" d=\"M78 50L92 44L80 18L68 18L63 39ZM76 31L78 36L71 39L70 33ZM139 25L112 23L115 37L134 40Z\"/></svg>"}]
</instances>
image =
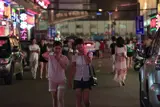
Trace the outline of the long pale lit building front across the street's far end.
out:
<instances>
[{"instance_id":1,"label":"long pale lit building front across the street's far end","mask_svg":"<svg viewBox=\"0 0 160 107\"><path fill-rule=\"evenodd\" d=\"M56 29L62 35L80 34L105 34L109 35L109 21L68 21L56 25ZM116 21L114 35L130 36L135 35L135 21L119 20Z\"/></svg>"}]
</instances>

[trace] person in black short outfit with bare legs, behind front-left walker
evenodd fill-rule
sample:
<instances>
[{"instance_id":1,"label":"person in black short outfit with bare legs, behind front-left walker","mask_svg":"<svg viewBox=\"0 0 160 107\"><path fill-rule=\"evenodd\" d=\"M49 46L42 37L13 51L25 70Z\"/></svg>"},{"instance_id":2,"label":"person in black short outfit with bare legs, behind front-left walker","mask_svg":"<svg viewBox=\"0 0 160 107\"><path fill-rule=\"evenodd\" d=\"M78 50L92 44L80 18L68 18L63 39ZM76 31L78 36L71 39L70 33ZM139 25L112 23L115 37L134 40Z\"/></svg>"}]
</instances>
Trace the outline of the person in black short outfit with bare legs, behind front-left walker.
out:
<instances>
[{"instance_id":1,"label":"person in black short outfit with bare legs, behind front-left walker","mask_svg":"<svg viewBox=\"0 0 160 107\"><path fill-rule=\"evenodd\" d=\"M39 56L39 62L40 62L40 78L43 79L43 71L46 72L46 78L48 78L47 73L47 60L44 59L42 54L48 51L47 45L45 44L45 40L41 40L41 43L39 45L40 47L40 56Z\"/></svg>"}]
</instances>

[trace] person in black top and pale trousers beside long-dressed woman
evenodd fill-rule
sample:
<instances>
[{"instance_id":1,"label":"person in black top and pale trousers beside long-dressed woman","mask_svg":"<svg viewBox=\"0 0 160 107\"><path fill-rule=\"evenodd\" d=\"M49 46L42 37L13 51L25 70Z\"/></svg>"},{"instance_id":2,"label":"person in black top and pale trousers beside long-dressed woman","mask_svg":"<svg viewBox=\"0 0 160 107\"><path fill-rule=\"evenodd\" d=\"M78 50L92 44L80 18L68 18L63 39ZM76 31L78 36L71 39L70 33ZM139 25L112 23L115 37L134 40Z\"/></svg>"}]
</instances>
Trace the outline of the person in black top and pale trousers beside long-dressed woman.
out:
<instances>
[{"instance_id":1,"label":"person in black top and pale trousers beside long-dressed woman","mask_svg":"<svg viewBox=\"0 0 160 107\"><path fill-rule=\"evenodd\" d=\"M115 71L115 47L116 47L116 38L113 36L112 37L112 44L110 45L112 61L113 61L113 64L112 64L113 72Z\"/></svg>"}]
</instances>

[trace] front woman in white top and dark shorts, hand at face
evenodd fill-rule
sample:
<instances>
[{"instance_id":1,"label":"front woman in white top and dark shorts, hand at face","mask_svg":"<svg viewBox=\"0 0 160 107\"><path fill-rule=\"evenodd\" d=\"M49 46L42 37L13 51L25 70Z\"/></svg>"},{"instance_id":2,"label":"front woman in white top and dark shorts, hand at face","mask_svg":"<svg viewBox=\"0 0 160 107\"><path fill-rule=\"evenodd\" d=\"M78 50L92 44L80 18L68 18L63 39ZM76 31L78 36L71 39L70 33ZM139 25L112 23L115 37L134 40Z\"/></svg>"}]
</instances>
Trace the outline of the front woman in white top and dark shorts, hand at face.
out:
<instances>
[{"instance_id":1,"label":"front woman in white top and dark shorts, hand at face","mask_svg":"<svg viewBox=\"0 0 160 107\"><path fill-rule=\"evenodd\" d=\"M91 84L89 82L88 64L91 63L92 57L87 55L82 39L77 39L75 43L78 54L72 57L69 86L72 86L72 79L74 78L73 88L76 91L76 107L82 107L82 99L85 107L90 107L89 92Z\"/></svg>"}]
</instances>

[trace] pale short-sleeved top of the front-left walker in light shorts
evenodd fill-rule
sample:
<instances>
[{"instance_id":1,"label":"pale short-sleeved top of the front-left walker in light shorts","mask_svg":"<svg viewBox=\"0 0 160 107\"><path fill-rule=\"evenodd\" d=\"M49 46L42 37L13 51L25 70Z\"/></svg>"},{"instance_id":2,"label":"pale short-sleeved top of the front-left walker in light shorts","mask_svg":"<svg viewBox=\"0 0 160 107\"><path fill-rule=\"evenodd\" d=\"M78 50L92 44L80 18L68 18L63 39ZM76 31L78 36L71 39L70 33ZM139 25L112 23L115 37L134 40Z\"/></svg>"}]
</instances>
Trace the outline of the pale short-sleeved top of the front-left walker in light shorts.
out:
<instances>
[{"instance_id":1,"label":"pale short-sleeved top of the front-left walker in light shorts","mask_svg":"<svg viewBox=\"0 0 160 107\"><path fill-rule=\"evenodd\" d=\"M64 55L61 56L60 60L66 65L69 63L68 58ZM61 83L66 80L65 69L57 62L53 53L50 53L48 58L48 80L56 83Z\"/></svg>"}]
</instances>

